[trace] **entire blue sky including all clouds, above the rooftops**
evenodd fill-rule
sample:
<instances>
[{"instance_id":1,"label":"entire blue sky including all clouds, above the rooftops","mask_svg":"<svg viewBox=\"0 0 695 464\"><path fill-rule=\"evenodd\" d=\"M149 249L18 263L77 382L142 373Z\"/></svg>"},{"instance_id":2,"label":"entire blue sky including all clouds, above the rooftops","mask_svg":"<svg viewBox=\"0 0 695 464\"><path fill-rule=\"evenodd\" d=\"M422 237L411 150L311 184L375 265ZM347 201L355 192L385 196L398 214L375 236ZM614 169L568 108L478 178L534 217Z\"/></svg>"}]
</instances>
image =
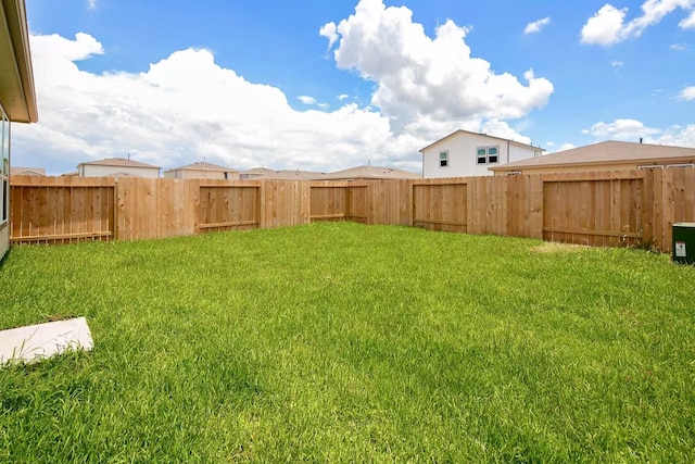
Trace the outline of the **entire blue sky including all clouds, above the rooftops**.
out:
<instances>
[{"instance_id":1,"label":"entire blue sky including all clouds, above the rooftops","mask_svg":"<svg viewBox=\"0 0 695 464\"><path fill-rule=\"evenodd\" d=\"M464 128L695 147L695 0L26 0L13 164L420 171Z\"/></svg>"}]
</instances>

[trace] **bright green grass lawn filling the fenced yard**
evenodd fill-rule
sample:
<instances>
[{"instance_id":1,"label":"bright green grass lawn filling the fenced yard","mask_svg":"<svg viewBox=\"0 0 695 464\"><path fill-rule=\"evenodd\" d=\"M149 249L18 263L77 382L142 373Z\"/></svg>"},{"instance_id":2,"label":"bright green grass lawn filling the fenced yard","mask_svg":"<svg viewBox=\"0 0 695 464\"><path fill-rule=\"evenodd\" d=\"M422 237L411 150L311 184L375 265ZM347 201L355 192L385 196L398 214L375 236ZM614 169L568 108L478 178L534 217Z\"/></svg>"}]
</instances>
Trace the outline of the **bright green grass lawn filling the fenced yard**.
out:
<instances>
[{"instance_id":1,"label":"bright green grass lawn filling the fenced yard","mask_svg":"<svg viewBox=\"0 0 695 464\"><path fill-rule=\"evenodd\" d=\"M315 224L17 247L0 462L694 462L695 267L627 249Z\"/></svg>"}]
</instances>

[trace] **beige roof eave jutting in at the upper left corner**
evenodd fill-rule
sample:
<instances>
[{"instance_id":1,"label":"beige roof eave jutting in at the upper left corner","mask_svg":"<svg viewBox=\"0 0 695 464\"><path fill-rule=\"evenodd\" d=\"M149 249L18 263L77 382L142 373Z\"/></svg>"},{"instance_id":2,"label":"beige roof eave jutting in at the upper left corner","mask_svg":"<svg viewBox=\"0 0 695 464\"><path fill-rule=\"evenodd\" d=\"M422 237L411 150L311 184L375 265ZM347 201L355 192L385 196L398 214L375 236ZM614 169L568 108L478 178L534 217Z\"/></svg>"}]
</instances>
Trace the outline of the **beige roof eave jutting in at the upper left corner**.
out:
<instances>
[{"instance_id":1,"label":"beige roof eave jutting in at the upper left corner","mask_svg":"<svg viewBox=\"0 0 695 464\"><path fill-rule=\"evenodd\" d=\"M36 123L36 92L24 0L0 0L0 100L17 123Z\"/></svg>"}]
</instances>

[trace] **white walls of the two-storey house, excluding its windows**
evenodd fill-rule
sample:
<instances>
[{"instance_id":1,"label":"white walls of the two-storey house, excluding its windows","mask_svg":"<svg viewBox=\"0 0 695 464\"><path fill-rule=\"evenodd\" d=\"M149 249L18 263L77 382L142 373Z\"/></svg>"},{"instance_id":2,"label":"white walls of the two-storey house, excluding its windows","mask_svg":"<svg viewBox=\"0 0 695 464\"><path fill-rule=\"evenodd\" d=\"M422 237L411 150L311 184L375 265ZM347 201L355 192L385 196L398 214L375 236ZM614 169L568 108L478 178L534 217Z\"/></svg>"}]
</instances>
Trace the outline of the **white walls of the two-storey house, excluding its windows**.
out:
<instances>
[{"instance_id":1,"label":"white walls of the two-storey house, excluding its windows","mask_svg":"<svg viewBox=\"0 0 695 464\"><path fill-rule=\"evenodd\" d=\"M477 164L479 147L500 147L500 162ZM440 153L448 151L448 166L440 167ZM483 134L459 133L424 150L422 176L425 178L492 176L488 167L500 166L534 156L540 149L525 148L510 141Z\"/></svg>"}]
</instances>

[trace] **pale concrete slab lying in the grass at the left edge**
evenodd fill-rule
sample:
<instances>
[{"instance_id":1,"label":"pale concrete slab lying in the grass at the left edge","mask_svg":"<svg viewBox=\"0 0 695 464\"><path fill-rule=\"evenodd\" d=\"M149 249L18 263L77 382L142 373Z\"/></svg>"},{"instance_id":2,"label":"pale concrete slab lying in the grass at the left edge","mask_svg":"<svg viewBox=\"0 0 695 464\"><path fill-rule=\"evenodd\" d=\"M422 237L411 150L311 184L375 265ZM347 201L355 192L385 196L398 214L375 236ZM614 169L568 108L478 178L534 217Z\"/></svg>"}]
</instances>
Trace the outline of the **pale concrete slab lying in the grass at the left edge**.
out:
<instances>
[{"instance_id":1,"label":"pale concrete slab lying in the grass at the left edge","mask_svg":"<svg viewBox=\"0 0 695 464\"><path fill-rule=\"evenodd\" d=\"M0 330L0 366L38 362L67 350L91 350L93 341L85 317Z\"/></svg>"}]
</instances>

